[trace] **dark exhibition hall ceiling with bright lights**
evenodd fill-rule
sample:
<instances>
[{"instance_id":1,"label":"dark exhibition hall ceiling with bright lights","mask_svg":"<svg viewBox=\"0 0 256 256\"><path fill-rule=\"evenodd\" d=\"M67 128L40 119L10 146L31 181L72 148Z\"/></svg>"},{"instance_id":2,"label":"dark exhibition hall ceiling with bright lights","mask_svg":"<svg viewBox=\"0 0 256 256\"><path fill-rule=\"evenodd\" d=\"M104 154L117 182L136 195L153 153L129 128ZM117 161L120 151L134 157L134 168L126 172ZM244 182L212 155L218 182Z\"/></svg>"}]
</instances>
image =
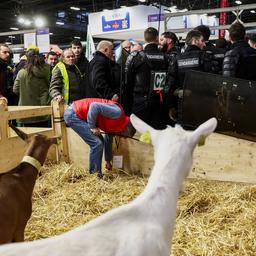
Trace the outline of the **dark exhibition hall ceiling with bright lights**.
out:
<instances>
[{"instance_id":1,"label":"dark exhibition hall ceiling with bright lights","mask_svg":"<svg viewBox=\"0 0 256 256\"><path fill-rule=\"evenodd\" d=\"M35 28L35 23L43 22L49 27L52 43L68 44L74 37L85 40L88 14L108 9L112 10L138 4L164 6L166 9L176 6L177 9L210 9L218 8L216 0L1 0L0 1L0 33ZM241 0L242 4L252 4L255 0ZM230 6L237 6L236 1L229 1ZM256 11L256 10L255 10ZM242 13L245 22L256 21L256 14L250 10ZM1 35L0 42L22 43L22 35Z\"/></svg>"}]
</instances>

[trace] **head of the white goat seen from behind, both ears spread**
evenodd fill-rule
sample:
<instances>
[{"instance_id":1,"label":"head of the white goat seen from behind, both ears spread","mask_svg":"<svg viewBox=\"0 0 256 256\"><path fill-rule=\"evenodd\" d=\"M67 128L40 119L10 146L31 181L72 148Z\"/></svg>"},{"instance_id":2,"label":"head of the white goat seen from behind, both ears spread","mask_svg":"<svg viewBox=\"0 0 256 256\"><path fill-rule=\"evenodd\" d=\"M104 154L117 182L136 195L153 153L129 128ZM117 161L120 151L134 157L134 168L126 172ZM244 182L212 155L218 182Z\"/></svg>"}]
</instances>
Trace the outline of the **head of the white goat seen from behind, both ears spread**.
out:
<instances>
[{"instance_id":1,"label":"head of the white goat seen from behind, both ears spread","mask_svg":"<svg viewBox=\"0 0 256 256\"><path fill-rule=\"evenodd\" d=\"M192 153L200 141L210 135L217 126L216 118L211 118L201 124L195 131L185 131L181 126L168 126L164 130L156 130L143 122L134 114L130 117L134 128L140 132L149 132L151 142L154 146L155 165L159 169L164 168L164 165L172 158L173 164L178 164L178 159L182 159L180 163L180 171L184 171L184 177L187 176L192 165ZM159 166L160 165L160 166ZM173 166L172 168L173 169Z\"/></svg>"}]
</instances>

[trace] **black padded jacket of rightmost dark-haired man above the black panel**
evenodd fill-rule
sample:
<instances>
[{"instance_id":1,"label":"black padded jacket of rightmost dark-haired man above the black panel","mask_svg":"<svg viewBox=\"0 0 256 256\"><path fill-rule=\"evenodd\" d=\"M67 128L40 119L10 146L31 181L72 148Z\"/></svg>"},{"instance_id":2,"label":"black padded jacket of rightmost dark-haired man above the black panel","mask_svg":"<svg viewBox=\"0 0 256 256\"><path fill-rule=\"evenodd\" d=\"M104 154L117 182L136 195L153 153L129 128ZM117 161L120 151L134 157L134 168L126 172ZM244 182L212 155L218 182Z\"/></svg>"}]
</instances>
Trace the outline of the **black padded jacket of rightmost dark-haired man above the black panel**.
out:
<instances>
[{"instance_id":1,"label":"black padded jacket of rightmost dark-haired man above the black panel","mask_svg":"<svg viewBox=\"0 0 256 256\"><path fill-rule=\"evenodd\" d=\"M256 50L245 41L232 44L225 54L223 76L256 80Z\"/></svg>"}]
</instances>

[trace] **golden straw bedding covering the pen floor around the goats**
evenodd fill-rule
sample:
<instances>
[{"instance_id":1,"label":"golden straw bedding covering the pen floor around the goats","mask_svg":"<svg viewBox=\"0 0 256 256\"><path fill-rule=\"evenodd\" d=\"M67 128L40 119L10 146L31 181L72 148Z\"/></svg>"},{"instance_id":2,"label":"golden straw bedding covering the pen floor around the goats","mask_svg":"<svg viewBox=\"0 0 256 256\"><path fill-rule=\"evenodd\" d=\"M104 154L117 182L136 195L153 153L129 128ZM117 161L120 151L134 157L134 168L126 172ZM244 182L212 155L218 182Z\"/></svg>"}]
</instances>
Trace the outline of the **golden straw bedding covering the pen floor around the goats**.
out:
<instances>
[{"instance_id":1,"label":"golden straw bedding covering the pen floor around the goats","mask_svg":"<svg viewBox=\"0 0 256 256\"><path fill-rule=\"evenodd\" d=\"M131 201L146 183L146 177L120 170L99 180L82 168L48 163L35 186L26 240L84 224ZM178 200L171 255L256 255L255 238L255 185L186 181Z\"/></svg>"}]
</instances>

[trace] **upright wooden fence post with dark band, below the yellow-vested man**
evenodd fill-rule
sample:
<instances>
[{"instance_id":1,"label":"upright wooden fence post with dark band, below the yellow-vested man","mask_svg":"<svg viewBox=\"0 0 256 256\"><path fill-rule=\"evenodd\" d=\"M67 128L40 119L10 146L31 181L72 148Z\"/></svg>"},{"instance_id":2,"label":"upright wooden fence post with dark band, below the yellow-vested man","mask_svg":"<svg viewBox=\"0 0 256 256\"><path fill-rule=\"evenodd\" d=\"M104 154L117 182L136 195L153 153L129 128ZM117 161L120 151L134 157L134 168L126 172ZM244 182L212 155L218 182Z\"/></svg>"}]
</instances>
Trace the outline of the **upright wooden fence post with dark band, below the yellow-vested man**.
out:
<instances>
[{"instance_id":1,"label":"upright wooden fence post with dark band, below the yellow-vested man","mask_svg":"<svg viewBox=\"0 0 256 256\"><path fill-rule=\"evenodd\" d=\"M57 146L57 162L64 160L69 162L69 151L68 151L68 141L67 141L67 130L64 122L64 103L58 103L57 101L52 101L52 126L56 136L61 136L61 143Z\"/></svg>"}]
</instances>

